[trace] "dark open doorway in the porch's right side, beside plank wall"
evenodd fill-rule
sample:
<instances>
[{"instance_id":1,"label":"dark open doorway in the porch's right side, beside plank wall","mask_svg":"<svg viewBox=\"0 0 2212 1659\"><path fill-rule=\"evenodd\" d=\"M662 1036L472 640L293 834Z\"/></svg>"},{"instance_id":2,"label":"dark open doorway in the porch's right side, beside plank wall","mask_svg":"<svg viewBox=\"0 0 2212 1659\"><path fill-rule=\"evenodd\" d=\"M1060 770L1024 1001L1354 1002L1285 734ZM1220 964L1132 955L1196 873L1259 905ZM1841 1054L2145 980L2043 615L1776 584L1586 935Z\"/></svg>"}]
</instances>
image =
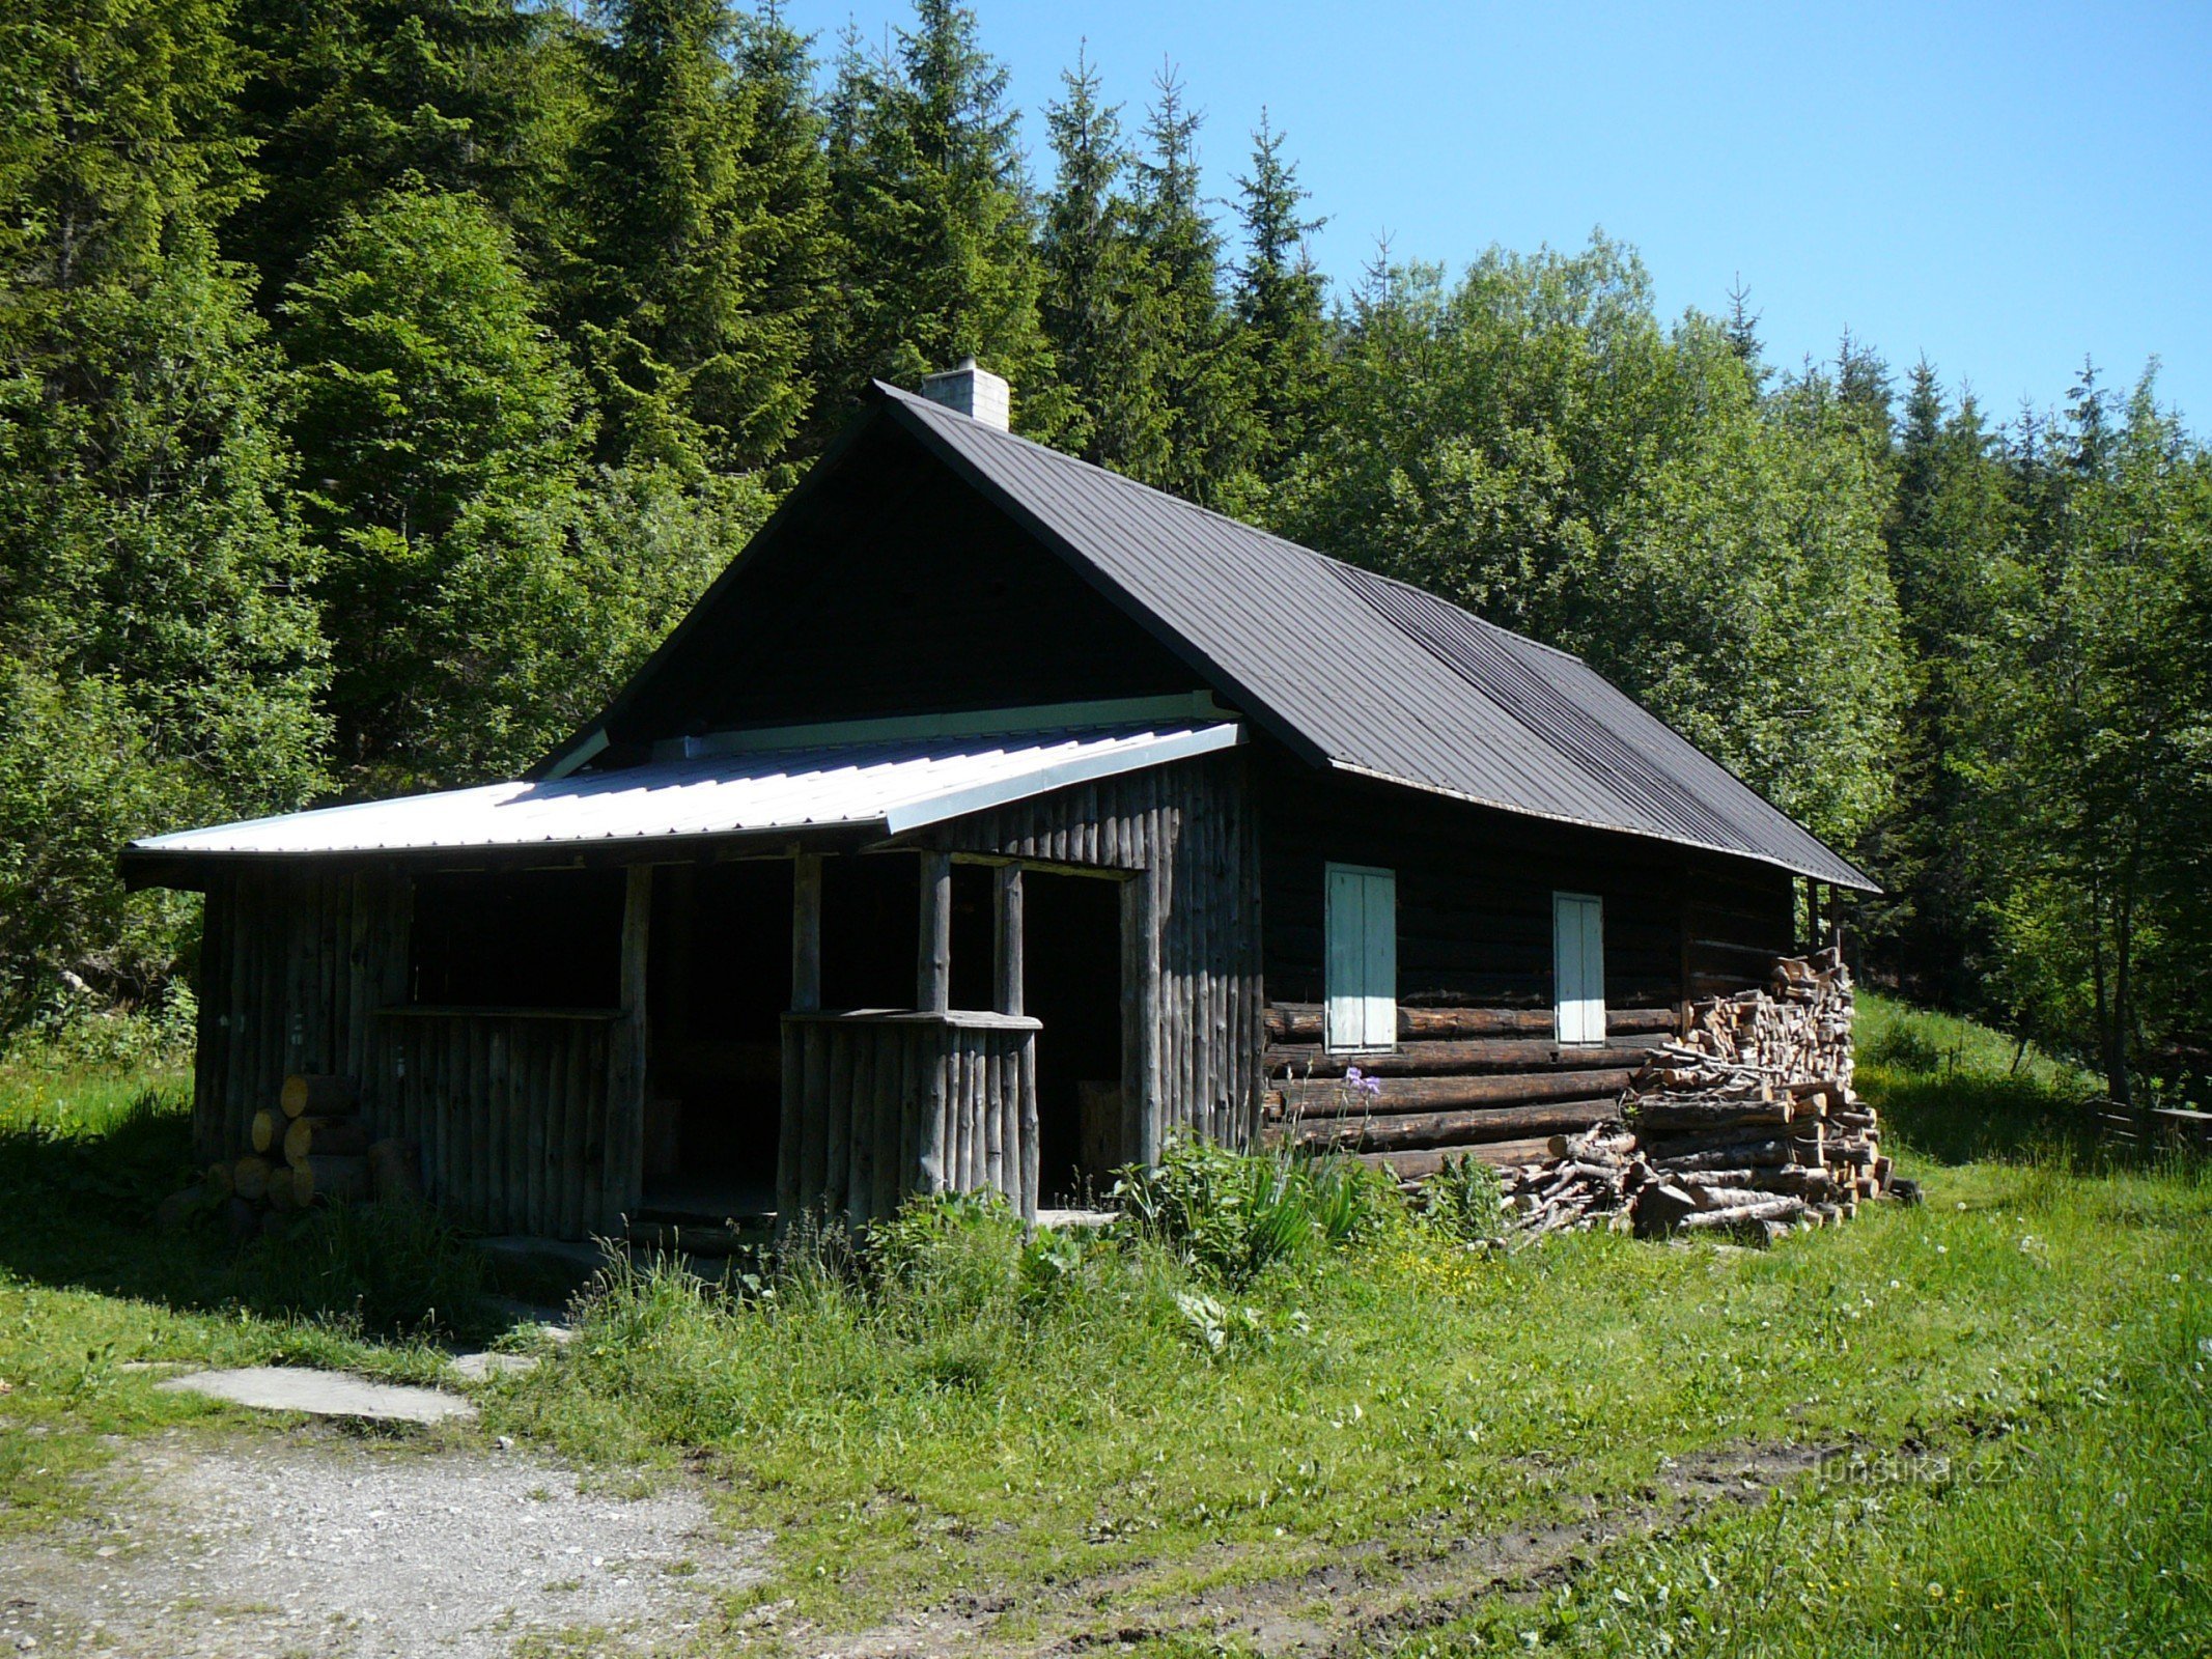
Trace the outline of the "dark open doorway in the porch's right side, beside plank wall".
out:
<instances>
[{"instance_id":1,"label":"dark open doorway in the porch's right side, beside plank wall","mask_svg":"<svg viewBox=\"0 0 2212 1659\"><path fill-rule=\"evenodd\" d=\"M1121 1133L1121 883L1022 874L1022 1009L1037 1031L1037 1203L1082 1208L1135 1157Z\"/></svg>"}]
</instances>

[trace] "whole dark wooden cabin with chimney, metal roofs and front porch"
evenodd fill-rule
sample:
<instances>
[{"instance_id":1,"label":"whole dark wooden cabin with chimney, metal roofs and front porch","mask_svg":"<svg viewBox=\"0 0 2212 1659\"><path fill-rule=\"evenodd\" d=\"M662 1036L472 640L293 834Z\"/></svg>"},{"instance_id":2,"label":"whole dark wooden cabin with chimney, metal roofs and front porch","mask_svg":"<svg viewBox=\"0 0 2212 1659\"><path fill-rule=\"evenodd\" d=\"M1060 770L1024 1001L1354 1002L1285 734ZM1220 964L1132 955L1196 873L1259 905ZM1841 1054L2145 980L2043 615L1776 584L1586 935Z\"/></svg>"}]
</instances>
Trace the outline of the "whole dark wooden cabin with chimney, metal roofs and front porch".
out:
<instances>
[{"instance_id":1,"label":"whole dark wooden cabin with chimney, metal roofs and front porch","mask_svg":"<svg viewBox=\"0 0 2212 1659\"><path fill-rule=\"evenodd\" d=\"M531 776L124 863L206 894L208 1157L338 1073L456 1221L568 1239L1035 1214L1177 1133L1515 1157L1869 887L1575 657L1015 438L971 365L878 387Z\"/></svg>"}]
</instances>

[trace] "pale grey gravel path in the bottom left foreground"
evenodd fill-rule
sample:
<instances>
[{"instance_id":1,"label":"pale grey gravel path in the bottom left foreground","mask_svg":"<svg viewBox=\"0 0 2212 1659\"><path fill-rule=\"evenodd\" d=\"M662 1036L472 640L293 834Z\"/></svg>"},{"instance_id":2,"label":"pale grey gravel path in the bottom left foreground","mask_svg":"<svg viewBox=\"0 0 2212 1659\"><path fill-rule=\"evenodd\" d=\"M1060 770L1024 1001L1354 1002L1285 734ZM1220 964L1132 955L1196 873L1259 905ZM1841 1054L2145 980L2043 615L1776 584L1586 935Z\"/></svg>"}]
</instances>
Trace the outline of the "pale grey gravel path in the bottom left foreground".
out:
<instances>
[{"instance_id":1,"label":"pale grey gravel path in the bottom left foreground","mask_svg":"<svg viewBox=\"0 0 2212 1659\"><path fill-rule=\"evenodd\" d=\"M765 1537L728 1540L697 1491L580 1493L522 1453L168 1436L111 1480L100 1520L0 1542L0 1652L653 1652L763 1577Z\"/></svg>"}]
</instances>

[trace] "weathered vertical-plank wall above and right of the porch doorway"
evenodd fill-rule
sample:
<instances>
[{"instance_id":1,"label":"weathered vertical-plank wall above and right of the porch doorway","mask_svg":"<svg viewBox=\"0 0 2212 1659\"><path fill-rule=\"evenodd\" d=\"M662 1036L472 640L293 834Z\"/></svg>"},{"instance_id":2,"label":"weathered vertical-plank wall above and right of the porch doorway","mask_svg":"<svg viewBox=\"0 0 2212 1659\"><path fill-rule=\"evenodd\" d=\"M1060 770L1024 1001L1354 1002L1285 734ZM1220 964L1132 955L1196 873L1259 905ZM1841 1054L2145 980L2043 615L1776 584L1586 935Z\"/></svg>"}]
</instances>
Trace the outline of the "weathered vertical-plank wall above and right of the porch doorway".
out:
<instances>
[{"instance_id":1,"label":"weathered vertical-plank wall above and right of the porch doorway","mask_svg":"<svg viewBox=\"0 0 2212 1659\"><path fill-rule=\"evenodd\" d=\"M1124 1146L1150 1157L1179 1128L1252 1144L1265 1035L1259 847L1241 752L978 812L927 841L951 854L1133 872L1121 1075L1139 1086L1124 1086Z\"/></svg>"}]
</instances>

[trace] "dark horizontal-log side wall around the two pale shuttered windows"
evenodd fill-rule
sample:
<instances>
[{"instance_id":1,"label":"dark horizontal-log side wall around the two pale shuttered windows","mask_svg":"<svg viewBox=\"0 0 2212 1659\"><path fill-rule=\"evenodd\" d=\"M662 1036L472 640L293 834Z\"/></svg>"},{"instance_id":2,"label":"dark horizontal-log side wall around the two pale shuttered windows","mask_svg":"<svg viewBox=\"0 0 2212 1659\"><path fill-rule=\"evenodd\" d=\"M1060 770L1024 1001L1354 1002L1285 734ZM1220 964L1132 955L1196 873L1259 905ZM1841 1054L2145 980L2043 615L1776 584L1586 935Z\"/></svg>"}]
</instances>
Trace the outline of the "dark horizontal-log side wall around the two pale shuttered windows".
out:
<instances>
[{"instance_id":1,"label":"dark horizontal-log side wall around the two pale shuttered windows","mask_svg":"<svg viewBox=\"0 0 2212 1659\"><path fill-rule=\"evenodd\" d=\"M1261 761L1265 1139L1400 1172L1447 1152L1511 1161L1615 1110L1641 1051L1688 998L1763 984L1792 949L1783 872ZM1327 863L1391 869L1398 1048L1323 1048ZM1606 1040L1557 1042L1553 894L1604 900ZM1347 1064L1380 1079L1352 1095Z\"/></svg>"}]
</instances>

